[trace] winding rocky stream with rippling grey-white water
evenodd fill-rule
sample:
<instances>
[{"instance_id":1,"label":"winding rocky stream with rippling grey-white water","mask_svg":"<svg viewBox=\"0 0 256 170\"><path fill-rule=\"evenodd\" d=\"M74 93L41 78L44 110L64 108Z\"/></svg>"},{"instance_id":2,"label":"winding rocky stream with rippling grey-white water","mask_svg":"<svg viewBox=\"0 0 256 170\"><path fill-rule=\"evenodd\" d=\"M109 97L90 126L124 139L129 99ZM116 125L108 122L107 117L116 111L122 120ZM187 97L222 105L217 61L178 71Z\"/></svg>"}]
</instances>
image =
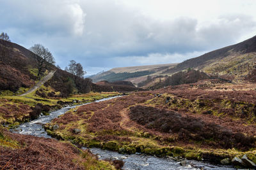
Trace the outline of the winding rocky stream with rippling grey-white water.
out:
<instances>
[{"instance_id":1,"label":"winding rocky stream with rippling grey-white water","mask_svg":"<svg viewBox=\"0 0 256 170\"><path fill-rule=\"evenodd\" d=\"M118 96L116 96L118 97ZM113 99L115 97L109 97L105 99L100 99L95 102L106 101L109 99ZM86 103L90 104L90 103ZM84 105L84 104L81 104ZM52 111L50 115L41 115L36 120L31 122L27 122L25 124L19 125L16 129L12 129L12 132L19 134L29 134L33 136L43 137L43 138L51 138L51 136L47 135L42 125L51 122L53 118L56 118L71 108L76 108L77 106L67 106L65 108L61 108L57 111ZM123 160L125 162L124 169L234 169L232 167L227 166L216 166L212 164L208 164L205 162L198 162L195 160L186 160L186 166L181 166L180 162L177 162L172 159L164 159L159 157L153 157L145 154L120 154L118 152L111 152L108 150L102 150L100 148L90 148L92 153L98 155L99 159L118 159Z\"/></svg>"}]
</instances>

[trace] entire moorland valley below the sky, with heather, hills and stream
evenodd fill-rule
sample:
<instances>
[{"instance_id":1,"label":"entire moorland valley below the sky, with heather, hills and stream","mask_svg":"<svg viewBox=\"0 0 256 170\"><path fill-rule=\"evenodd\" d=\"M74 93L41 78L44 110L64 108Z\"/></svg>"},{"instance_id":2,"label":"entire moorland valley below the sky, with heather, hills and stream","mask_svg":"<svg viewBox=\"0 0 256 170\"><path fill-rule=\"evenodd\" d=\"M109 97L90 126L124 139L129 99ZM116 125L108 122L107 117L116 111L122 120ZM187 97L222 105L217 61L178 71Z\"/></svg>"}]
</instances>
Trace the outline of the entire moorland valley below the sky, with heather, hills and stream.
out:
<instances>
[{"instance_id":1,"label":"entire moorland valley below the sky, with heather, hills and stream","mask_svg":"<svg viewBox=\"0 0 256 170\"><path fill-rule=\"evenodd\" d=\"M10 60L0 62L2 169L125 167L125 159L100 160L84 147L184 169L198 168L191 161L205 169L256 166L256 37L180 64L112 69L97 82L53 64L39 75L31 51L7 46ZM122 97L95 102L115 96ZM44 117L51 119L40 122ZM33 132L22 130L33 120Z\"/></svg>"}]
</instances>

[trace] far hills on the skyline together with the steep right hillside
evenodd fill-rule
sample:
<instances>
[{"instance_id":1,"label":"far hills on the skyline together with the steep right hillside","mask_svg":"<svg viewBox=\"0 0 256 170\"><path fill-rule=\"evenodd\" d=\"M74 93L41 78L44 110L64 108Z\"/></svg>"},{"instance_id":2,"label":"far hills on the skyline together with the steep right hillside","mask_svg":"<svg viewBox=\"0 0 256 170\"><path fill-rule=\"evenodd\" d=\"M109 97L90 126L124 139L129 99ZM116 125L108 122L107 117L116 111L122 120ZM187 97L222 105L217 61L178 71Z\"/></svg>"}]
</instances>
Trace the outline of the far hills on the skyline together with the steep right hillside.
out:
<instances>
[{"instance_id":1,"label":"far hills on the skyline together with the steep right hillside","mask_svg":"<svg viewBox=\"0 0 256 170\"><path fill-rule=\"evenodd\" d=\"M256 36L236 45L226 46L199 57L186 60L179 64L161 64L153 66L118 67L93 75L93 82L97 81L131 81L138 87L151 87L166 76L179 71L196 69L204 71L210 76L225 78L232 81L250 81L248 75L256 69ZM148 76L150 80L148 81ZM252 76L251 76L252 77Z\"/></svg>"}]
</instances>

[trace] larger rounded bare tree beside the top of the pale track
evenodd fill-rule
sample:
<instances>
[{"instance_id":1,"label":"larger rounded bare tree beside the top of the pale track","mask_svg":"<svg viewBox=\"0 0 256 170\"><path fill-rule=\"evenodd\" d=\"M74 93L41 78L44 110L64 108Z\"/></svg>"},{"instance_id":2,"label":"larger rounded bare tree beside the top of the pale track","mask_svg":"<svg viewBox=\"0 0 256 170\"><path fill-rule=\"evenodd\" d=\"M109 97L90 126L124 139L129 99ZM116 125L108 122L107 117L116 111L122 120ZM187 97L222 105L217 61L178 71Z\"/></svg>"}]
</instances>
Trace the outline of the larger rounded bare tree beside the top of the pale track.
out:
<instances>
[{"instance_id":1,"label":"larger rounded bare tree beside the top of the pale track","mask_svg":"<svg viewBox=\"0 0 256 170\"><path fill-rule=\"evenodd\" d=\"M29 50L33 52L32 57L38 68L38 76L42 75L44 69L47 69L51 64L55 63L52 53L43 45L35 44L34 46L31 46Z\"/></svg>"}]
</instances>

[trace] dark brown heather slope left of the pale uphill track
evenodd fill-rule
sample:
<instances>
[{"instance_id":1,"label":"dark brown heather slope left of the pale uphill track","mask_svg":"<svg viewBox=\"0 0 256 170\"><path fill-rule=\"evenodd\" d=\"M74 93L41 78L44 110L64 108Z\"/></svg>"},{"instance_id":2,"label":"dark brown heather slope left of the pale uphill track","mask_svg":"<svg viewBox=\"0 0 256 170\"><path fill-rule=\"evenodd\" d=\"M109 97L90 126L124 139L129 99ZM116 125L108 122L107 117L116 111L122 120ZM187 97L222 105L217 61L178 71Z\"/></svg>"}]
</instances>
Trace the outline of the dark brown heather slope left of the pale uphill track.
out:
<instances>
[{"instance_id":1,"label":"dark brown heather slope left of the pale uphill track","mask_svg":"<svg viewBox=\"0 0 256 170\"><path fill-rule=\"evenodd\" d=\"M0 39L2 46L4 40ZM35 66L31 52L22 46L6 41L8 57L0 61L0 92L17 92L20 88L29 88L35 84ZM22 90L22 89L20 89Z\"/></svg>"}]
</instances>

